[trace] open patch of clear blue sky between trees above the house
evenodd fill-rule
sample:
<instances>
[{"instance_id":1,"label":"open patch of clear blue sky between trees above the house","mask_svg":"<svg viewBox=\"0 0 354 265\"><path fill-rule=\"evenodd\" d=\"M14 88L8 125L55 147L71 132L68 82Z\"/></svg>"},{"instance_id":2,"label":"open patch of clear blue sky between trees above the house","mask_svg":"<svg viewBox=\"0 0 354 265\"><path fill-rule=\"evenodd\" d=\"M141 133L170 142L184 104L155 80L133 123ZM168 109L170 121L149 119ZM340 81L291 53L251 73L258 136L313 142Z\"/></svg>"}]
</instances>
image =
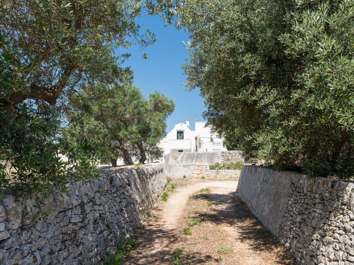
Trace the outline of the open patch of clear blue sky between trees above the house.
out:
<instances>
[{"instance_id":1,"label":"open patch of clear blue sky between trees above the house","mask_svg":"<svg viewBox=\"0 0 354 265\"><path fill-rule=\"evenodd\" d=\"M178 31L173 25L164 27L159 16L142 16L137 23L142 26L142 33L146 32L146 29L155 33L157 41L142 51L148 55L147 60L141 59L137 46L128 49L132 56L125 65L130 65L134 71L134 83L146 96L156 90L175 99L176 109L167 120L167 132L172 130L175 124L185 123L186 119L190 119L191 129L194 130L194 118L197 122L204 121L201 113L205 108L199 89L187 92L181 86L186 76L182 74L179 64L188 57L182 41L187 42L188 35L183 30Z\"/></svg>"}]
</instances>

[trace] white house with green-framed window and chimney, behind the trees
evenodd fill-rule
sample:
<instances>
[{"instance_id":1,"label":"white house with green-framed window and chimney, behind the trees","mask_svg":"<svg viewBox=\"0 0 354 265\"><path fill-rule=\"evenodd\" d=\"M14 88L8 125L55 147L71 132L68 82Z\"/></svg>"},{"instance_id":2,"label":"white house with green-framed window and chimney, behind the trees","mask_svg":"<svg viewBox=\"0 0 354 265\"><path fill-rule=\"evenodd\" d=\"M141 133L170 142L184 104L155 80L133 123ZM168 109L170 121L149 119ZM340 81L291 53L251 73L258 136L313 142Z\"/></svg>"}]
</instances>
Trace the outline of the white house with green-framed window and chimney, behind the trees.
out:
<instances>
[{"instance_id":1,"label":"white house with green-framed window and chimney, behind the trees","mask_svg":"<svg viewBox=\"0 0 354 265\"><path fill-rule=\"evenodd\" d=\"M205 127L206 122L196 122L195 130L189 129L189 120L178 123L161 141L164 154L176 152L209 152L226 151L223 146L224 139L212 135L210 127Z\"/></svg>"}]
</instances>

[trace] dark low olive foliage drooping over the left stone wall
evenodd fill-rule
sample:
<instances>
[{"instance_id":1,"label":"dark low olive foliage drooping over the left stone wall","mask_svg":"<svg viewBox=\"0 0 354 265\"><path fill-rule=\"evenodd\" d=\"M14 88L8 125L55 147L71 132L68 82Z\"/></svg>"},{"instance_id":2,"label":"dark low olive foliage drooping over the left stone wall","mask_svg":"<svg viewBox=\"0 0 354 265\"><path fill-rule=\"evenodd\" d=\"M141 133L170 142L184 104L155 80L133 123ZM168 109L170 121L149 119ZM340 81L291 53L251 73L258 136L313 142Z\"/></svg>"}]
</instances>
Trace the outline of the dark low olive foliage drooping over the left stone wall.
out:
<instances>
[{"instance_id":1,"label":"dark low olive foliage drooping over the left stone wall","mask_svg":"<svg viewBox=\"0 0 354 265\"><path fill-rule=\"evenodd\" d=\"M78 144L62 139L59 123L50 107L30 101L0 110L0 153L5 158L0 165L0 187L22 202L24 214L46 214L42 211L46 195L68 193L69 182L99 176L89 150L93 140ZM27 205L30 199L34 205Z\"/></svg>"}]
</instances>

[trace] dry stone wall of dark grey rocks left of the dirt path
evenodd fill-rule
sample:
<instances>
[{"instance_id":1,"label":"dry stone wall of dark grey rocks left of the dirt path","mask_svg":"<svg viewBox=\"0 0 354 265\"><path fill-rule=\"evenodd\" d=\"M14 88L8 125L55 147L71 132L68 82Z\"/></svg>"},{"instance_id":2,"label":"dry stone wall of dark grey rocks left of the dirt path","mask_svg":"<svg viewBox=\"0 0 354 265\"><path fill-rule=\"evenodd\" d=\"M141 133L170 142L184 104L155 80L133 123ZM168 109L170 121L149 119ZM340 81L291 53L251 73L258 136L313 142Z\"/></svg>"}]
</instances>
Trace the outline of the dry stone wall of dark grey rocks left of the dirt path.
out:
<instances>
[{"instance_id":1,"label":"dry stone wall of dark grey rocks left of the dirt path","mask_svg":"<svg viewBox=\"0 0 354 265\"><path fill-rule=\"evenodd\" d=\"M0 199L0 264L96 264L140 226L167 186L162 164L72 183L49 196L45 218L22 217L12 195Z\"/></svg>"}]
</instances>

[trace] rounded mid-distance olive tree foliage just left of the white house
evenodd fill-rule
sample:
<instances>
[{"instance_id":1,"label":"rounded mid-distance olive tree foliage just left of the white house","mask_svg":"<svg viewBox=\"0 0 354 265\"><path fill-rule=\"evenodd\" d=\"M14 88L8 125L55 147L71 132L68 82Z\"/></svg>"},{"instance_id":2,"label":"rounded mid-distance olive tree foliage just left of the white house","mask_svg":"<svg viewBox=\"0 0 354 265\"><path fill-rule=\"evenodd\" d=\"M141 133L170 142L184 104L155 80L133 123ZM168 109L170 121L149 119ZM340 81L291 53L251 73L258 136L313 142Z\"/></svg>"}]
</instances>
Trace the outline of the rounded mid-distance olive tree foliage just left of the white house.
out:
<instances>
[{"instance_id":1,"label":"rounded mid-distance olive tree foliage just left of the white house","mask_svg":"<svg viewBox=\"0 0 354 265\"><path fill-rule=\"evenodd\" d=\"M132 155L140 157L139 164L147 156L162 156L158 145L166 134L166 119L175 108L164 94L154 92L146 99L135 85L94 83L70 95L69 102L72 109L67 115L87 121L76 130L77 124L69 125L70 139L79 141L82 131L94 131L92 137L104 147L101 152L112 160L122 156L126 165L134 164Z\"/></svg>"}]
</instances>

